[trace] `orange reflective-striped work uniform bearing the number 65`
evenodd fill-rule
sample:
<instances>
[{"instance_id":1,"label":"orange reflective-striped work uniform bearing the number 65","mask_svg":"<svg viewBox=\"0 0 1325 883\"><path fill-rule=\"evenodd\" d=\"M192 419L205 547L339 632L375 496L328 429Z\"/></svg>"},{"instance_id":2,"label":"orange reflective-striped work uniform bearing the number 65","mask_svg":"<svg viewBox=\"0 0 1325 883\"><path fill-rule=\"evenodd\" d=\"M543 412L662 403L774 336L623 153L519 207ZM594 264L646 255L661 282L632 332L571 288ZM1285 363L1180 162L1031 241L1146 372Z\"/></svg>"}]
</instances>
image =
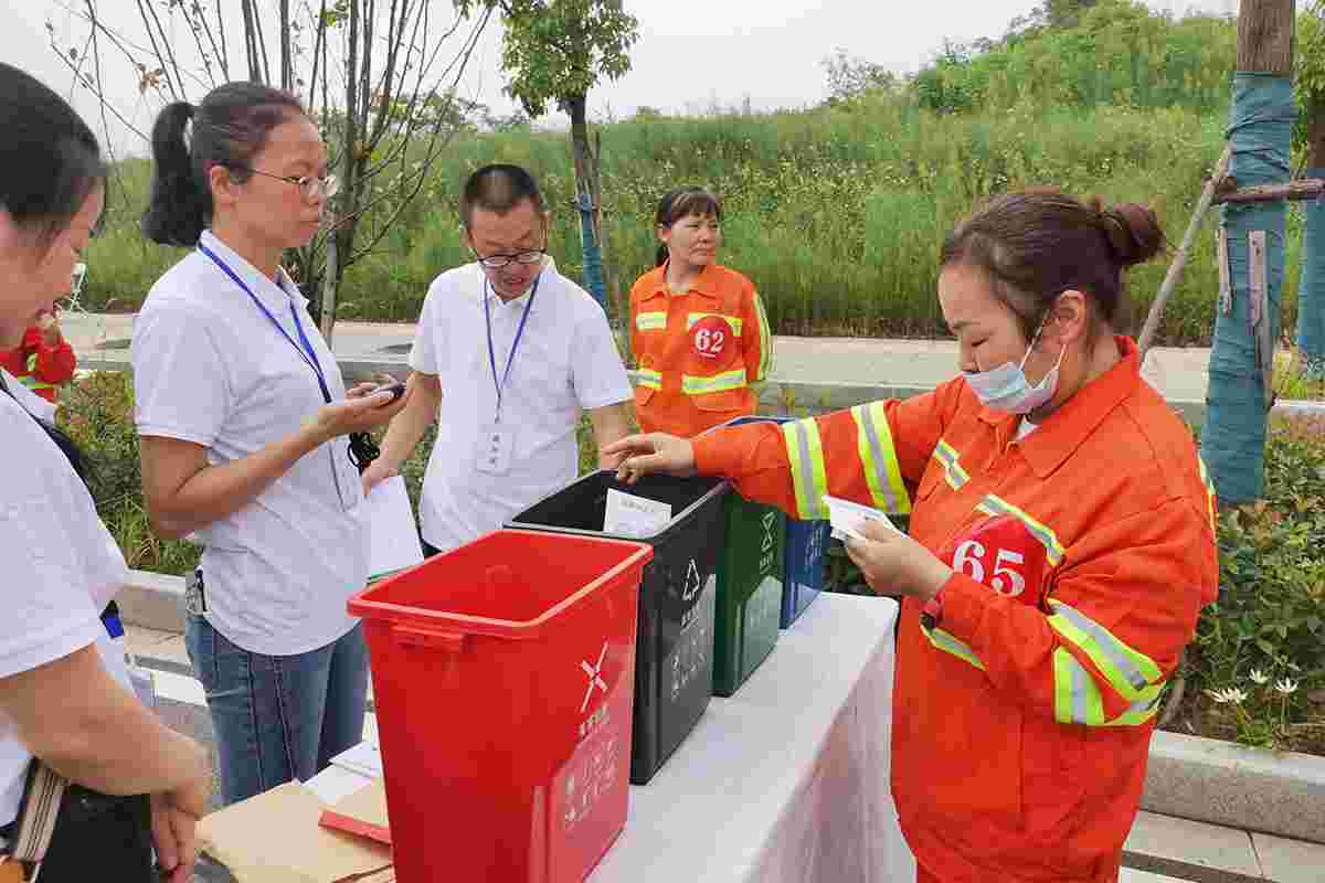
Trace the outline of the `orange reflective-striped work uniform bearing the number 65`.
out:
<instances>
[{"instance_id":1,"label":"orange reflective-striped work uniform bearing the number 65","mask_svg":"<svg viewBox=\"0 0 1325 883\"><path fill-rule=\"evenodd\" d=\"M949 563L935 627L902 601L893 797L945 883L1114 880L1163 686L1215 600L1214 490L1136 344L1041 425L954 380L694 441L701 473L825 518L904 512Z\"/></svg>"}]
</instances>

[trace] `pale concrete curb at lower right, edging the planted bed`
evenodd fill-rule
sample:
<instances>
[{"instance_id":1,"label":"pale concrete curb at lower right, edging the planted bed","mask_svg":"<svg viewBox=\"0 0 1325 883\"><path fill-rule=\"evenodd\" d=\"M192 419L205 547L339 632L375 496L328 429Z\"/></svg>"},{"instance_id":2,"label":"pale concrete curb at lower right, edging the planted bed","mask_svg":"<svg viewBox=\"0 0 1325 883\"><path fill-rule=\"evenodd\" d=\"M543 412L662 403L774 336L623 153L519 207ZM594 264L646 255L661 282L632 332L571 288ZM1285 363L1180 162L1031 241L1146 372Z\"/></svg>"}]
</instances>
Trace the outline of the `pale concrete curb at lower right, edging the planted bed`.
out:
<instances>
[{"instance_id":1,"label":"pale concrete curb at lower right, edging the planted bed","mask_svg":"<svg viewBox=\"0 0 1325 883\"><path fill-rule=\"evenodd\" d=\"M1325 757L1157 732L1141 808L1325 843Z\"/></svg>"}]
</instances>

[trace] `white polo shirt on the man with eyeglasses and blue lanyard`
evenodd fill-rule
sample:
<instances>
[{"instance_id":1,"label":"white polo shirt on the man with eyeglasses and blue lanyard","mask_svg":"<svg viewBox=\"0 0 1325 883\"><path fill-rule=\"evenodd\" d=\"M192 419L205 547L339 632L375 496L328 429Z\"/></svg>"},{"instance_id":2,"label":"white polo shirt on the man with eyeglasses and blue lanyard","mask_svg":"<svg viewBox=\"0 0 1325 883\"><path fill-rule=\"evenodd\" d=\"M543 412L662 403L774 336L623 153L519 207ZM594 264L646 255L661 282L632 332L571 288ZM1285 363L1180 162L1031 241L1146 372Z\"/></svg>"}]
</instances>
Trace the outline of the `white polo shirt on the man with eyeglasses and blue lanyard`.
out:
<instances>
[{"instance_id":1,"label":"white polo shirt on the man with eyeglasses and blue lanyard","mask_svg":"<svg viewBox=\"0 0 1325 883\"><path fill-rule=\"evenodd\" d=\"M575 478L580 412L631 398L625 365L598 302L545 266L502 396L514 433L510 470L477 469L478 430L497 412L484 298L492 308L498 377L529 294L504 303L478 263L443 273L428 289L409 365L441 381L437 442L420 499L423 537L439 549L494 531Z\"/></svg>"}]
</instances>

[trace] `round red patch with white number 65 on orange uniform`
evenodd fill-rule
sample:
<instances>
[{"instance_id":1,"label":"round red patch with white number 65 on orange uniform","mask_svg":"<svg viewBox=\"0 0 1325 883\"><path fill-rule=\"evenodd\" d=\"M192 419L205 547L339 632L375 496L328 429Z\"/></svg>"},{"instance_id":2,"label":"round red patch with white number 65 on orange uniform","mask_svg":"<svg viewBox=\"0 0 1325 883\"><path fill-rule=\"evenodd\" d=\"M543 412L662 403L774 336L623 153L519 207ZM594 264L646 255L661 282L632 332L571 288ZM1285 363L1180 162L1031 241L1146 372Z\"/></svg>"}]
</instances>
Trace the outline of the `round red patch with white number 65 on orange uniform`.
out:
<instances>
[{"instance_id":1,"label":"round red patch with white number 65 on orange uniform","mask_svg":"<svg viewBox=\"0 0 1325 883\"><path fill-rule=\"evenodd\" d=\"M939 556L958 573L1027 606L1040 606L1048 553L1026 524L995 515L961 535Z\"/></svg>"}]
</instances>

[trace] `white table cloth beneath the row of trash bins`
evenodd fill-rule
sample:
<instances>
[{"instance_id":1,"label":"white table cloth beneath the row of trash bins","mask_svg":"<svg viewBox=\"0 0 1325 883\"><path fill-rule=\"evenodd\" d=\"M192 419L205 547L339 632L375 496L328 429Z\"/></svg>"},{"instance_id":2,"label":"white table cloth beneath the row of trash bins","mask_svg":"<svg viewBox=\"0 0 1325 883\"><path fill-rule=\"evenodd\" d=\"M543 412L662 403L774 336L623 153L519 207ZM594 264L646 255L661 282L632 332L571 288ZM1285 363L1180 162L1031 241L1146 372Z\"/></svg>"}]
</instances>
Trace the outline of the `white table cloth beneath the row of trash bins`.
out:
<instances>
[{"instance_id":1,"label":"white table cloth beneath the row of trash bins","mask_svg":"<svg viewBox=\"0 0 1325 883\"><path fill-rule=\"evenodd\" d=\"M714 698L590 883L912 883L889 793L893 629L885 598L822 596L737 695ZM333 767L327 802L368 780Z\"/></svg>"}]
</instances>

